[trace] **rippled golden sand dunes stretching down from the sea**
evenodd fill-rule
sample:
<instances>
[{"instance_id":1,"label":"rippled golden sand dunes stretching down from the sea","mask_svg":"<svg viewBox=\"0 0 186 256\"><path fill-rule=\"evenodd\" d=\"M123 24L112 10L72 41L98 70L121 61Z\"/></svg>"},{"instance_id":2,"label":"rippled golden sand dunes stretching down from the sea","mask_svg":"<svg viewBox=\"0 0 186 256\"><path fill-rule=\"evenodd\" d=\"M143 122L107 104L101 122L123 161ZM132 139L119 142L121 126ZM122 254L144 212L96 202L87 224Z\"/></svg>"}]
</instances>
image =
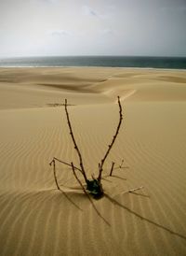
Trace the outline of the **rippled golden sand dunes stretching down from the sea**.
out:
<instances>
[{"instance_id":1,"label":"rippled golden sand dunes stretching down from the sea","mask_svg":"<svg viewBox=\"0 0 186 256\"><path fill-rule=\"evenodd\" d=\"M67 98L87 176L98 175L117 95L124 121L95 208L63 164L58 191L48 163L78 165ZM1 68L0 255L186 255L185 155L184 70Z\"/></svg>"}]
</instances>

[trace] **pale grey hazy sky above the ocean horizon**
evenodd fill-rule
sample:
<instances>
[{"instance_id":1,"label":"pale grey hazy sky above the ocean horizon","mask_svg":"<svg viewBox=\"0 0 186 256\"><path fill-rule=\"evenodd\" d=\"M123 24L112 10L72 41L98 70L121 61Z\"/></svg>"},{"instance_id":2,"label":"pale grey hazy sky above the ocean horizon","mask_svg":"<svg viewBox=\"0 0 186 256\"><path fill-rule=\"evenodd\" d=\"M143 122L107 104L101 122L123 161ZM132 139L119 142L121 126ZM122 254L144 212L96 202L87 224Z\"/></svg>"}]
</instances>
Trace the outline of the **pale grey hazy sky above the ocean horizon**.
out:
<instances>
[{"instance_id":1,"label":"pale grey hazy sky above the ocean horizon","mask_svg":"<svg viewBox=\"0 0 186 256\"><path fill-rule=\"evenodd\" d=\"M0 58L186 57L186 0L0 0Z\"/></svg>"}]
</instances>

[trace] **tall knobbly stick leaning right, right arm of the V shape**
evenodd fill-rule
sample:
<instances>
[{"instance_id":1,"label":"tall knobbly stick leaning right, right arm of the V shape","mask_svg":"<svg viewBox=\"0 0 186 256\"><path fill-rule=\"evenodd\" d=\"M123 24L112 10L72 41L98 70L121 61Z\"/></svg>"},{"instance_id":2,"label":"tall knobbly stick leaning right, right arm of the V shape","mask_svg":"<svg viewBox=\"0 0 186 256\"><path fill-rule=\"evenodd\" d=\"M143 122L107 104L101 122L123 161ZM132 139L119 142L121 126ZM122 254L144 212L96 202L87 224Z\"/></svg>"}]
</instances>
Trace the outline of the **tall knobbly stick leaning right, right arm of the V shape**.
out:
<instances>
[{"instance_id":1,"label":"tall knobbly stick leaning right, right arm of the V shape","mask_svg":"<svg viewBox=\"0 0 186 256\"><path fill-rule=\"evenodd\" d=\"M119 134L119 129L121 127L121 123L122 123L122 120L123 120L122 106L121 106L121 103L120 103L120 97L117 96L117 99L118 99L118 106L119 106L119 123L117 125L117 129L116 129L115 135L113 135L112 143L109 145L109 148L107 149L103 159L100 161L100 173L99 173L99 178L98 178L99 180L101 179L101 174L102 174L102 170L103 170L103 164L105 163L106 158L108 157L111 149L113 148L113 143L115 142L115 139L116 139L117 135Z\"/></svg>"}]
</instances>

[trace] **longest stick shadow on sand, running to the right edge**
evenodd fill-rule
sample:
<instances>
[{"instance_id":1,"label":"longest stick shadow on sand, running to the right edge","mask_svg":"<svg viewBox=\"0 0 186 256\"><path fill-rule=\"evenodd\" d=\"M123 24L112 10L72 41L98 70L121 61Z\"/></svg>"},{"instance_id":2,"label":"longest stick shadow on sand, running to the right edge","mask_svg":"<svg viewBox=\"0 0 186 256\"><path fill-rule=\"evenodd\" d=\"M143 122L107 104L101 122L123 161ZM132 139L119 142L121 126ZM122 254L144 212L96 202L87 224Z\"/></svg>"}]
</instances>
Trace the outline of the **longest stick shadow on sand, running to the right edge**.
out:
<instances>
[{"instance_id":1,"label":"longest stick shadow on sand, running to the right edge","mask_svg":"<svg viewBox=\"0 0 186 256\"><path fill-rule=\"evenodd\" d=\"M109 201L111 201L113 204L115 204L116 206L120 206L120 207L124 208L127 212L129 212L129 213L135 215L135 216L136 216L137 218L139 218L140 220L145 220L145 221L147 221L148 223L153 224L154 226L156 226L156 227L158 227L158 228L160 228L160 229L162 229L162 230L165 230L166 232L168 232L168 233L171 234L171 235L177 235L179 238L182 238L182 239L186 240L186 236L185 236L185 235L181 235L181 234L179 234L179 233L177 233L177 232L174 232L174 231L170 230L169 228L166 228L165 226L154 222L153 220L150 220L150 219L148 219L148 218L146 218L146 217L141 216L139 213L137 213L137 212L131 210L130 208L128 208L128 207L122 205L121 203L119 203L118 201L116 201L115 199L113 199L113 198L112 198L111 196L109 196L108 194L105 194L105 197L106 197Z\"/></svg>"}]
</instances>

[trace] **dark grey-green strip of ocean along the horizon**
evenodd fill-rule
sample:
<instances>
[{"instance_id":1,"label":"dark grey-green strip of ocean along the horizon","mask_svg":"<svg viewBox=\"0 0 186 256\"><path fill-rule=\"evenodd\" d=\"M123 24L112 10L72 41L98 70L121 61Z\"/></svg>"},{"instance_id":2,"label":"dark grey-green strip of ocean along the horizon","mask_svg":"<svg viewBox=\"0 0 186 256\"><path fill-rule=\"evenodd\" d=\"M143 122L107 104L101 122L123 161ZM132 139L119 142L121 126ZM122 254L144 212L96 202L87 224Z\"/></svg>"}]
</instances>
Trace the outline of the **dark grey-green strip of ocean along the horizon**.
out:
<instances>
[{"instance_id":1,"label":"dark grey-green strip of ocean along the horizon","mask_svg":"<svg viewBox=\"0 0 186 256\"><path fill-rule=\"evenodd\" d=\"M0 67L110 66L186 69L186 57L54 56L0 59Z\"/></svg>"}]
</instances>

